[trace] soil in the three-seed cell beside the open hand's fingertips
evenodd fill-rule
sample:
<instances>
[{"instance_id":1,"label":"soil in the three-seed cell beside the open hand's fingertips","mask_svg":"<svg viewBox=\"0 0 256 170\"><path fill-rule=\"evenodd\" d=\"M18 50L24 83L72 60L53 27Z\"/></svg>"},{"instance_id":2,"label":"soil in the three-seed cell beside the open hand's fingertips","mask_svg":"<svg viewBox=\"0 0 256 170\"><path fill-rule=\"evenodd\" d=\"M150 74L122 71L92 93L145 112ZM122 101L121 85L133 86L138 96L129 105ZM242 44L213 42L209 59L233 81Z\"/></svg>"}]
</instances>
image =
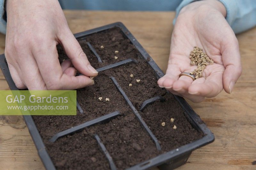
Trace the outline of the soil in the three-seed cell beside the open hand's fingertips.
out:
<instances>
[{"instance_id":1,"label":"soil in the three-seed cell beside the open hand's fingertips","mask_svg":"<svg viewBox=\"0 0 256 170\"><path fill-rule=\"evenodd\" d=\"M115 77L137 110L145 100L166 94L166 90L158 86L156 73L145 60L139 64L129 63L104 72ZM133 78L130 77L131 74ZM140 82L138 83L137 80Z\"/></svg>"}]
</instances>

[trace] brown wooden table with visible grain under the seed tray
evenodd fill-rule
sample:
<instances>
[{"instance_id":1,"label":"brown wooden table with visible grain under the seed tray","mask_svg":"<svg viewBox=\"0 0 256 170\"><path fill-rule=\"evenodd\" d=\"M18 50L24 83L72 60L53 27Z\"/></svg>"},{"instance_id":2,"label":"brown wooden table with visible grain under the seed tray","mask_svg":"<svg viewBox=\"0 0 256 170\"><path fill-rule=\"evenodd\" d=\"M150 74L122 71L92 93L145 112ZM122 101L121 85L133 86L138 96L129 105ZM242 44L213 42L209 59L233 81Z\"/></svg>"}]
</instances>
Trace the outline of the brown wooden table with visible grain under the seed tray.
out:
<instances>
[{"instance_id":1,"label":"brown wooden table with visible grain under the seed tray","mask_svg":"<svg viewBox=\"0 0 256 170\"><path fill-rule=\"evenodd\" d=\"M162 70L169 57L174 12L65 11L73 33L121 21ZM4 35L0 52L4 53ZM179 169L256 169L256 28L237 35L243 74L232 94L224 91L189 104L215 135ZM0 75L0 89L8 85ZM0 117L0 169L44 169L21 116Z\"/></svg>"}]
</instances>

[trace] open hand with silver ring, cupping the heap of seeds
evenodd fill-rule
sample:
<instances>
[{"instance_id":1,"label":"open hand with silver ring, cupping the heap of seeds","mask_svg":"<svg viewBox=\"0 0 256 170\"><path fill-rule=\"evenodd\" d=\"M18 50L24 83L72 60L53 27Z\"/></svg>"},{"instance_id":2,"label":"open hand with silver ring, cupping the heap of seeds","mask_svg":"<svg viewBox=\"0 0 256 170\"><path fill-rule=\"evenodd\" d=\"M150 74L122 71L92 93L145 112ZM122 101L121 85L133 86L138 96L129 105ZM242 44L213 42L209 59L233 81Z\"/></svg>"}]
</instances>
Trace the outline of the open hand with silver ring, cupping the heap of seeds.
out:
<instances>
[{"instance_id":1,"label":"open hand with silver ring, cupping the heap of seeds","mask_svg":"<svg viewBox=\"0 0 256 170\"><path fill-rule=\"evenodd\" d=\"M166 75L158 84L173 94L201 102L205 97L215 97L223 87L231 93L242 69L238 41L222 13L205 6L191 8L177 18ZM189 59L194 46L202 48L214 64L206 66L203 77L195 81L187 76L179 78L180 73L196 69Z\"/></svg>"}]
</instances>

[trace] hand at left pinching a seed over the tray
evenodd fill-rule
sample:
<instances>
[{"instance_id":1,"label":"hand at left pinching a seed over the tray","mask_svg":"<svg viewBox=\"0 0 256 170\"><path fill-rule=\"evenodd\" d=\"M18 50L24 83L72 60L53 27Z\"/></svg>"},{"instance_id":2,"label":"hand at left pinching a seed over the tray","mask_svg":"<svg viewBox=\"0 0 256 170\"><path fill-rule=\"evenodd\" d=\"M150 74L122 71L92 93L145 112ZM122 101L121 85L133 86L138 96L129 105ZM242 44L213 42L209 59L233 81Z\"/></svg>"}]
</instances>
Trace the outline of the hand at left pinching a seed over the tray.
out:
<instances>
[{"instance_id":1,"label":"hand at left pinching a seed over the tray","mask_svg":"<svg viewBox=\"0 0 256 170\"><path fill-rule=\"evenodd\" d=\"M91 66L57 0L7 0L5 57L19 89L72 90L93 85ZM70 60L61 65L56 45ZM75 76L76 69L84 76Z\"/></svg>"}]
</instances>

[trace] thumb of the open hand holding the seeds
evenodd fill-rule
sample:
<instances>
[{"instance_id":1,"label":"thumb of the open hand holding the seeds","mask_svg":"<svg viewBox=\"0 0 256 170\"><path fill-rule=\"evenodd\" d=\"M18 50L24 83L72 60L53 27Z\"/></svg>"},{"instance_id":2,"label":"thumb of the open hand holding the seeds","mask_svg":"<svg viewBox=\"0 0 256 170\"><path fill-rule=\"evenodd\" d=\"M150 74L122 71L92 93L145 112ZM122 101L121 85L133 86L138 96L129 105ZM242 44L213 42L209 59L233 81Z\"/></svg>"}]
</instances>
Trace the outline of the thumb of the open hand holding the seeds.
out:
<instances>
[{"instance_id":1,"label":"thumb of the open hand holding the seeds","mask_svg":"<svg viewBox=\"0 0 256 170\"><path fill-rule=\"evenodd\" d=\"M231 39L225 39L221 44L222 61L225 67L223 73L223 87L227 93L231 93L236 81L242 74L242 66L239 52L238 41L234 36Z\"/></svg>"}]
</instances>

